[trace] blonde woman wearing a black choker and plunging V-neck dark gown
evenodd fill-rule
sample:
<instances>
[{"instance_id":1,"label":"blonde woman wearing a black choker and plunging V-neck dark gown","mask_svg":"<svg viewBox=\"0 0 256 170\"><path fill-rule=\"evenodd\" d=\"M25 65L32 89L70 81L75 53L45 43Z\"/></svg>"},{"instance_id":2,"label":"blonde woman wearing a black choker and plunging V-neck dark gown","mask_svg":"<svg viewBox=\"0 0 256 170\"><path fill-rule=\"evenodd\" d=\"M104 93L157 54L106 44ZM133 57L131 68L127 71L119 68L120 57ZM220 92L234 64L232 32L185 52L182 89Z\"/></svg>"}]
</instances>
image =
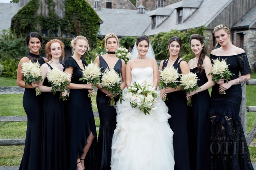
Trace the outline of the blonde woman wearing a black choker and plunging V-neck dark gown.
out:
<instances>
[{"instance_id":1,"label":"blonde woman wearing a black choker and plunging V-neck dark gown","mask_svg":"<svg viewBox=\"0 0 256 170\"><path fill-rule=\"evenodd\" d=\"M118 38L116 34L109 33L104 39L107 54L97 56L94 62L101 67L101 72L103 72L105 68L110 70L114 69L120 76L122 76L122 84L120 87L123 90L126 86L126 65L124 60L117 58L115 55L115 51L119 47ZM110 170L111 143L116 128L116 109L114 106L109 106L109 99L114 97L114 95L108 93L106 89L101 88L101 84L97 87L96 102L100 116L100 130L97 143L96 169ZM116 97L115 102L117 102L118 99L119 97Z\"/></svg>"}]
</instances>

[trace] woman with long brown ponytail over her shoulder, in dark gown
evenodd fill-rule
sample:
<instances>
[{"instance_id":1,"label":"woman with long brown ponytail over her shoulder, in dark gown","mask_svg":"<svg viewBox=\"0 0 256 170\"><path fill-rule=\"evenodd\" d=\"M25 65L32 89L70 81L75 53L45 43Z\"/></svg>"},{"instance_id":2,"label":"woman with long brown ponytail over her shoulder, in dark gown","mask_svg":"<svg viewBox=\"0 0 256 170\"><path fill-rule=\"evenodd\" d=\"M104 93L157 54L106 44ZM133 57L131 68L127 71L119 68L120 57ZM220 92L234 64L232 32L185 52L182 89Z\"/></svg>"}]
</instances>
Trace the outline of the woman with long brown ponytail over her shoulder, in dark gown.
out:
<instances>
[{"instance_id":1,"label":"woman with long brown ponytail over her shoulder, in dark gown","mask_svg":"<svg viewBox=\"0 0 256 170\"><path fill-rule=\"evenodd\" d=\"M199 89L187 94L192 99L192 106L189 111L189 148L190 148L190 169L207 170L209 166L210 155L210 120L209 104L210 94L208 88L214 85L212 81L212 63L206 56L206 47L203 36L193 34L190 36L190 46L192 52L196 55L188 62L190 72L198 77Z\"/></svg>"}]
</instances>

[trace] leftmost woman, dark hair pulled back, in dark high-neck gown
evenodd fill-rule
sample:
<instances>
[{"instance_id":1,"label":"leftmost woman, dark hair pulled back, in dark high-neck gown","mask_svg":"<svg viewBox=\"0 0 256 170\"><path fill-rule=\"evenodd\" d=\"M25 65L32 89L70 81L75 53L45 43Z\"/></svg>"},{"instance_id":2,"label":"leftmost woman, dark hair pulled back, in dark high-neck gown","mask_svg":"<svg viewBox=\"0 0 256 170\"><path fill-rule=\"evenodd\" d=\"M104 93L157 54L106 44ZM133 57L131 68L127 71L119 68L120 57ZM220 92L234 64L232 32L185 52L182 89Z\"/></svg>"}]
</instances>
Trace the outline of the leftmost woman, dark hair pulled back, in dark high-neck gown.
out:
<instances>
[{"instance_id":1,"label":"leftmost woman, dark hair pulled back, in dark high-neck gown","mask_svg":"<svg viewBox=\"0 0 256 170\"><path fill-rule=\"evenodd\" d=\"M26 38L30 52L20 59L17 69L17 85L25 88L23 95L23 107L27 114L27 131L24 147L24 154L20 163L20 170L34 170L41 168L41 136L42 136L42 97L36 96L35 88L37 82L25 86L21 64L23 62L39 62L42 65L48 60L39 55L39 50L43 43L43 38L37 32L31 32Z\"/></svg>"}]
</instances>

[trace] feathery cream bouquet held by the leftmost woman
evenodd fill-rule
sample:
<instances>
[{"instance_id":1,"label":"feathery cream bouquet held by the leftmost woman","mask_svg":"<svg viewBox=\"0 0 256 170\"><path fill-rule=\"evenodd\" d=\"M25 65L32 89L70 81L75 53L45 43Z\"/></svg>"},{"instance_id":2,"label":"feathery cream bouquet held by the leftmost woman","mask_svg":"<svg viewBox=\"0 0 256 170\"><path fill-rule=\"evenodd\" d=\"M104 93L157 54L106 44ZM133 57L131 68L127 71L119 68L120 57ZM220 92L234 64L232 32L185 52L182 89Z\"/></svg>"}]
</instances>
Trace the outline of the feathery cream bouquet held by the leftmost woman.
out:
<instances>
[{"instance_id":1,"label":"feathery cream bouquet held by the leftmost woman","mask_svg":"<svg viewBox=\"0 0 256 170\"><path fill-rule=\"evenodd\" d=\"M25 86L31 84L32 82L42 81L41 69L39 62L23 62L21 63L21 73L25 79ZM38 87L36 87L36 95L41 94Z\"/></svg>"}]
</instances>

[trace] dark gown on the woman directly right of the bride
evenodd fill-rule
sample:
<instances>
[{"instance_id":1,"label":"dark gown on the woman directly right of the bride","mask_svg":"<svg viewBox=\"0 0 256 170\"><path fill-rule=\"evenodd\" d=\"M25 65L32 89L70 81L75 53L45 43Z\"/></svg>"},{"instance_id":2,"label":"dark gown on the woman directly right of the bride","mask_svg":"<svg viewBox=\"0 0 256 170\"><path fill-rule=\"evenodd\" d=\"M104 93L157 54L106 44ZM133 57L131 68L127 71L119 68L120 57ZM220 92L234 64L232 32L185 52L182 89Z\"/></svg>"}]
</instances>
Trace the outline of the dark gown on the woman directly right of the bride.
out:
<instances>
[{"instance_id":1,"label":"dark gown on the woman directly right of the bride","mask_svg":"<svg viewBox=\"0 0 256 170\"><path fill-rule=\"evenodd\" d=\"M175 69L180 69L180 57L173 64ZM164 60L162 70L167 66L168 60ZM173 131L173 149L174 149L174 170L189 170L189 153L188 153L188 107L186 93L183 90L167 93L165 101L168 107L168 113L172 116L168 123Z\"/></svg>"}]
</instances>

